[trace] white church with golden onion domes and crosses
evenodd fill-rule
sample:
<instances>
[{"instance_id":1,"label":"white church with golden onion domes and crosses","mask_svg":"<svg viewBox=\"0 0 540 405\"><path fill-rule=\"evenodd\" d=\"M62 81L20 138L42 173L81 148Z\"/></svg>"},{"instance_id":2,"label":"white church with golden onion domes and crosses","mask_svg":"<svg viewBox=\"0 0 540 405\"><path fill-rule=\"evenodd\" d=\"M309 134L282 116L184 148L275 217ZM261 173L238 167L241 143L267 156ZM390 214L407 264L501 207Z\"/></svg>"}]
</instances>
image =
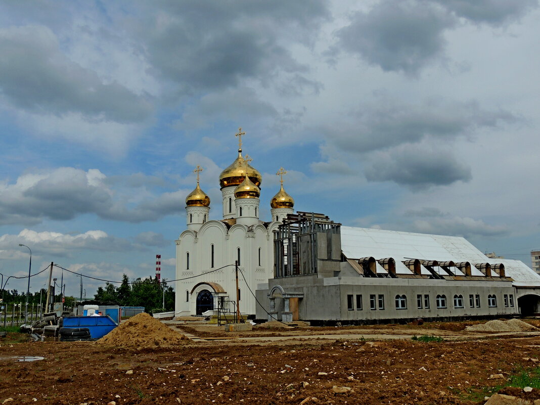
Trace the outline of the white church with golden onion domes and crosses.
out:
<instances>
[{"instance_id":1,"label":"white church with golden onion domes and crosses","mask_svg":"<svg viewBox=\"0 0 540 405\"><path fill-rule=\"evenodd\" d=\"M254 293L274 274L274 230L294 212L294 199L281 188L271 200L272 221L259 219L261 174L242 156L242 132L238 157L219 176L222 218L210 219L210 198L199 185L186 197L187 229L176 241L175 316L201 315L232 309L237 298L235 261L238 261L239 307L246 315L255 314ZM253 292L253 293L252 293Z\"/></svg>"}]
</instances>

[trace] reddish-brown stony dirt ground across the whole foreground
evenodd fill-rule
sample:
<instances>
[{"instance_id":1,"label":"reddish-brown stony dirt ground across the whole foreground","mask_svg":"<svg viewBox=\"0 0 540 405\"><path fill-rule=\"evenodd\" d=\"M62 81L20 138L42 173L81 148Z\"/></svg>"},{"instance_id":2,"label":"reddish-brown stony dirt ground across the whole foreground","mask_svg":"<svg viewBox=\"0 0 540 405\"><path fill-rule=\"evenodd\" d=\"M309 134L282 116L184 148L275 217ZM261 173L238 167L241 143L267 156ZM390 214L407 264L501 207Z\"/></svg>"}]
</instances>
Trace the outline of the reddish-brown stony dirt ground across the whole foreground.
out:
<instances>
[{"instance_id":1,"label":"reddish-brown stony dirt ground across the whole foreground","mask_svg":"<svg viewBox=\"0 0 540 405\"><path fill-rule=\"evenodd\" d=\"M480 404L510 375L540 366L540 332L480 334L460 323L235 334L168 326L199 339L136 351L8 336L0 341L0 404ZM540 399L538 389L504 390Z\"/></svg>"}]
</instances>

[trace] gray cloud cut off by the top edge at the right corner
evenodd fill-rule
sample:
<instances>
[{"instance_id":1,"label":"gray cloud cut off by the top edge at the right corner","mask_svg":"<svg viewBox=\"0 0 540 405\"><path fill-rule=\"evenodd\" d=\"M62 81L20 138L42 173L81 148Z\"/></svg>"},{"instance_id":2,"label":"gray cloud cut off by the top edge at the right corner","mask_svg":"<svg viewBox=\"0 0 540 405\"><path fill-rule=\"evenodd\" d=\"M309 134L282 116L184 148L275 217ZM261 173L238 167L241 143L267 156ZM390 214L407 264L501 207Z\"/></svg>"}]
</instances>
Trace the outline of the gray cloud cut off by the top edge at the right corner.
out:
<instances>
[{"instance_id":1,"label":"gray cloud cut off by the top edge at the right corner","mask_svg":"<svg viewBox=\"0 0 540 405\"><path fill-rule=\"evenodd\" d=\"M433 0L455 12L459 17L476 23L501 25L523 16L538 6L537 0Z\"/></svg>"}]
</instances>

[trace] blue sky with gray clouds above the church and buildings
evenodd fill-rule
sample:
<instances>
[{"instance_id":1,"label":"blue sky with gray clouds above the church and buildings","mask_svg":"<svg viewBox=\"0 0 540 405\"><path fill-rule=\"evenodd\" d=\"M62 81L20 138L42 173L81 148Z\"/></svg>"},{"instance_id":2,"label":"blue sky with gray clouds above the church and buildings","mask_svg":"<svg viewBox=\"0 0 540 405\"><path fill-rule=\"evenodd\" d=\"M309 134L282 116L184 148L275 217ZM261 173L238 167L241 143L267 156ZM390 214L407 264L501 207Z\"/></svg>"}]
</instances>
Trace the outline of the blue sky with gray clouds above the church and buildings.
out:
<instances>
[{"instance_id":1,"label":"blue sky with gray clouds above the church and buildings","mask_svg":"<svg viewBox=\"0 0 540 405\"><path fill-rule=\"evenodd\" d=\"M193 170L221 219L239 127L262 220L284 167L298 211L530 266L539 45L537 0L2 1L4 282L28 275L18 244L32 274L144 278L161 254L174 279Z\"/></svg>"}]
</instances>

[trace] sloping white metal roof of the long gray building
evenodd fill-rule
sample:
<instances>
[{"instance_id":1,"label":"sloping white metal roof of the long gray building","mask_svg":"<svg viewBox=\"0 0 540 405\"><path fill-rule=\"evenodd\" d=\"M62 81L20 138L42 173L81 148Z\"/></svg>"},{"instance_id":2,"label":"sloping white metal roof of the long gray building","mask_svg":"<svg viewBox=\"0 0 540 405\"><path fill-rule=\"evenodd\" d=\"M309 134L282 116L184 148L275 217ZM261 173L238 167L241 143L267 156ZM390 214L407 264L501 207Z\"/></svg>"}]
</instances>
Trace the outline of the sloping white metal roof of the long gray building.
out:
<instances>
[{"instance_id":1,"label":"sloping white metal roof of the long gray building","mask_svg":"<svg viewBox=\"0 0 540 405\"><path fill-rule=\"evenodd\" d=\"M515 286L540 286L540 275L519 260L489 259L461 237L341 226L341 250L348 259L394 258L397 267L403 260L423 259L468 261L471 275L483 276L476 263L502 263Z\"/></svg>"}]
</instances>

